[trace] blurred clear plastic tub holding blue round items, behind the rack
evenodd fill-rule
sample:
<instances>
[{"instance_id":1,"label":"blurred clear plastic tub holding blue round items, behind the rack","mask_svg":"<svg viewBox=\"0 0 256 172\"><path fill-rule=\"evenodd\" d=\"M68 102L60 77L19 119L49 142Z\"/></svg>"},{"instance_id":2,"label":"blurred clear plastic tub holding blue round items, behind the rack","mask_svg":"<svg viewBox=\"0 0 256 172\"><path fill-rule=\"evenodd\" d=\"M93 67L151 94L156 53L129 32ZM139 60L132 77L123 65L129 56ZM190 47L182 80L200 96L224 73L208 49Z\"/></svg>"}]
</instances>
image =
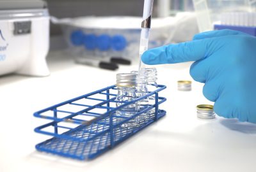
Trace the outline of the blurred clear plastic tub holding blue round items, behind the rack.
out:
<instances>
[{"instance_id":1,"label":"blurred clear plastic tub holding blue round items, behind the rack","mask_svg":"<svg viewBox=\"0 0 256 172\"><path fill-rule=\"evenodd\" d=\"M74 57L123 57L138 59L141 17L52 18L60 24ZM172 37L173 18L154 18L149 48L164 45Z\"/></svg>"}]
</instances>

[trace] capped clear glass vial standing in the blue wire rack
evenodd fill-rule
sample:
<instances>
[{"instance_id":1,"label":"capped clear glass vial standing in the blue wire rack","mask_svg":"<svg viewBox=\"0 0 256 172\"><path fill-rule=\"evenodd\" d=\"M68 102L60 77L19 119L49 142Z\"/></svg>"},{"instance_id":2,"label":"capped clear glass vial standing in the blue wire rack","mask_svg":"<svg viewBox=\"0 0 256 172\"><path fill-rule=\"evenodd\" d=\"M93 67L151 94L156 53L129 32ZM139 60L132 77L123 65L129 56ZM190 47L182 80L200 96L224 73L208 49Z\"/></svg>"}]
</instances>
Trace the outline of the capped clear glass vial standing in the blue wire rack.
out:
<instances>
[{"instance_id":1,"label":"capped clear glass vial standing in the blue wire rack","mask_svg":"<svg viewBox=\"0 0 256 172\"><path fill-rule=\"evenodd\" d=\"M118 94L116 96L116 106L120 106L124 103L133 101L136 99L136 74L134 73L118 73L116 75L116 86L118 89ZM138 111L138 104L132 103L124 108L120 108L119 110L116 110L116 122L121 122L127 117L131 117L132 115L135 115ZM119 117L119 118L118 118ZM125 124L122 124L121 127L138 127L138 118L132 118L128 122L125 122Z\"/></svg>"}]
</instances>

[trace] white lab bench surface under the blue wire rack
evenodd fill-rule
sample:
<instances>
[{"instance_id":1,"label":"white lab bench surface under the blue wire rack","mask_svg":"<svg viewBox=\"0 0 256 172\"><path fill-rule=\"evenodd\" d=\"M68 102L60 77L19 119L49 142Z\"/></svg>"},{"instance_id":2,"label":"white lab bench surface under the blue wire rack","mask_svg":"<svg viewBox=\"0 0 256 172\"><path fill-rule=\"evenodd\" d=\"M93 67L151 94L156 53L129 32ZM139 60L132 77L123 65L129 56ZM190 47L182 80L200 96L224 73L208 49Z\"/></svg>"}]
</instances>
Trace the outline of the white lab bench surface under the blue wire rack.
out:
<instances>
[{"instance_id":1,"label":"white lab bench surface under the blue wire rack","mask_svg":"<svg viewBox=\"0 0 256 172\"><path fill-rule=\"evenodd\" d=\"M167 115L92 161L40 153L35 145L50 137L33 129L47 121L33 112L115 83L115 74L137 65L107 71L75 64L51 52L51 76L0 77L0 171L256 171L256 125L216 117L196 118L197 104L211 103L202 84L191 92L177 90L177 80L191 80L188 64L157 66ZM211 103L212 104L212 103Z\"/></svg>"}]
</instances>

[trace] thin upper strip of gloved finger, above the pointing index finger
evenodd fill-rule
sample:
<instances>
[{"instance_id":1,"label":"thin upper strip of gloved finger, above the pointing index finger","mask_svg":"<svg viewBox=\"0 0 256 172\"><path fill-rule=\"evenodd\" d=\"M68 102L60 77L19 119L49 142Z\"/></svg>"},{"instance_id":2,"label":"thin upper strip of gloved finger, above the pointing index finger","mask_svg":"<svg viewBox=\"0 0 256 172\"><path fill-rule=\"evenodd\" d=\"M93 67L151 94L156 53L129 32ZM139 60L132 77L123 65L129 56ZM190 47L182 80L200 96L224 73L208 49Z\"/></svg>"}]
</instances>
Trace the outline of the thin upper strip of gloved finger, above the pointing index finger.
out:
<instances>
[{"instance_id":1,"label":"thin upper strip of gloved finger, above the pointing index finger","mask_svg":"<svg viewBox=\"0 0 256 172\"><path fill-rule=\"evenodd\" d=\"M230 29L223 29L218 31L208 31L208 32L201 32L199 34L195 34L195 36L193 37L193 40L205 39L205 38L216 38L221 36L238 35L238 34L248 35L244 32L233 31Z\"/></svg>"}]
</instances>

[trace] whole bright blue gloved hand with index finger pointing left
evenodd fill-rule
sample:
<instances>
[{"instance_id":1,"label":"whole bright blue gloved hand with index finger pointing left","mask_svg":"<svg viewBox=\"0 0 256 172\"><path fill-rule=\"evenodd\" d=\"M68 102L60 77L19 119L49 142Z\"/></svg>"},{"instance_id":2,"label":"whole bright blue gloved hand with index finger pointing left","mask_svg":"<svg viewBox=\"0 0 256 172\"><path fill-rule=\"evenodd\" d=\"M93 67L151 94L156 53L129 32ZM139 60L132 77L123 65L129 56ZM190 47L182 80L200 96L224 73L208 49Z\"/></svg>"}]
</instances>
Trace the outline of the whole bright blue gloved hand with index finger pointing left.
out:
<instances>
[{"instance_id":1,"label":"whole bright blue gloved hand with index finger pointing left","mask_svg":"<svg viewBox=\"0 0 256 172\"><path fill-rule=\"evenodd\" d=\"M256 123L256 38L238 31L196 34L193 41L145 52L145 64L195 61L190 75L205 83L203 94L225 118Z\"/></svg>"}]
</instances>

